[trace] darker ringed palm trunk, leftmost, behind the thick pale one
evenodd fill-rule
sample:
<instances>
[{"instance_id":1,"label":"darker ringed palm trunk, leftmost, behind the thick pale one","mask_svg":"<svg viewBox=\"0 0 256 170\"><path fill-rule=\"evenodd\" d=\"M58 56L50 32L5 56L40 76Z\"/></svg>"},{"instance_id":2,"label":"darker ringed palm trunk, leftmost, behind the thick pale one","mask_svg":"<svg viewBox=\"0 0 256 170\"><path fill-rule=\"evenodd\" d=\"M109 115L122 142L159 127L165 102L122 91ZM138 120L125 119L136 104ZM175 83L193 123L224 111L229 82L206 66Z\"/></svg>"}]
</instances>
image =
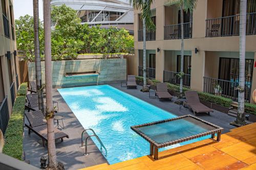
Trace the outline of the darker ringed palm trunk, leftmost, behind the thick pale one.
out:
<instances>
[{"instance_id":1,"label":"darker ringed palm trunk, leftmost, behind the thick pale one","mask_svg":"<svg viewBox=\"0 0 256 170\"><path fill-rule=\"evenodd\" d=\"M35 44L35 69L36 69L36 87L38 93L38 106L39 110L44 113L44 100L42 99L42 86L41 86L41 57L39 45L39 13L38 13L38 0L33 0L34 11L34 44Z\"/></svg>"}]
</instances>

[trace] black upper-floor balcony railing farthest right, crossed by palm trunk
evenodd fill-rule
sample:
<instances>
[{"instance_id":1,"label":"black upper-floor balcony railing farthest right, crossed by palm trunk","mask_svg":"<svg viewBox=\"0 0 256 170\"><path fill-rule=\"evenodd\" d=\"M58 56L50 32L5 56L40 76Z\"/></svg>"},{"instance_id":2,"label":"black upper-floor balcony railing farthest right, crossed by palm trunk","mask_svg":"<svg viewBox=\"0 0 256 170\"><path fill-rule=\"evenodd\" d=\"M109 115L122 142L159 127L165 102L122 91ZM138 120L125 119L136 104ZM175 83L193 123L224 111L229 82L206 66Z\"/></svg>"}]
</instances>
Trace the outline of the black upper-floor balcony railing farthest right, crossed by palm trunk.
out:
<instances>
[{"instance_id":1,"label":"black upper-floor balcony railing farthest right, crossed by palm trunk","mask_svg":"<svg viewBox=\"0 0 256 170\"><path fill-rule=\"evenodd\" d=\"M206 19L206 37L239 35L240 15ZM256 12L246 14L246 35L256 35Z\"/></svg>"}]
</instances>

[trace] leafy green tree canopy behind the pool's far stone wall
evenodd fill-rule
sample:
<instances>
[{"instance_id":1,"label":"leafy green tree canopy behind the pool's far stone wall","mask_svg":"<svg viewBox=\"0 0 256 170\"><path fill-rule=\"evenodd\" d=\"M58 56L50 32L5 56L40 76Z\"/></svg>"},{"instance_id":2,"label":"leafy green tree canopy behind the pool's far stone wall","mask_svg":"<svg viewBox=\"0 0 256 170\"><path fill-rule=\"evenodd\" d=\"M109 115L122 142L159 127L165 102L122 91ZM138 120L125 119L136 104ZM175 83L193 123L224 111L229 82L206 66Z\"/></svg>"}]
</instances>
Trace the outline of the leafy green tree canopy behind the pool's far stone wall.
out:
<instances>
[{"instance_id":1,"label":"leafy green tree canopy behind the pool's far stone wall","mask_svg":"<svg viewBox=\"0 0 256 170\"><path fill-rule=\"evenodd\" d=\"M134 38L124 29L111 27L101 29L100 26L89 27L81 25L76 11L65 5L53 6L52 19L52 59L76 58L79 51L85 53L101 53L105 58L110 54L125 53L133 47ZM33 17L21 16L15 20L16 40L18 50L26 53L26 60L34 60L34 29ZM40 50L44 49L44 29L39 24ZM44 57L44 55L41 55Z\"/></svg>"}]
</instances>

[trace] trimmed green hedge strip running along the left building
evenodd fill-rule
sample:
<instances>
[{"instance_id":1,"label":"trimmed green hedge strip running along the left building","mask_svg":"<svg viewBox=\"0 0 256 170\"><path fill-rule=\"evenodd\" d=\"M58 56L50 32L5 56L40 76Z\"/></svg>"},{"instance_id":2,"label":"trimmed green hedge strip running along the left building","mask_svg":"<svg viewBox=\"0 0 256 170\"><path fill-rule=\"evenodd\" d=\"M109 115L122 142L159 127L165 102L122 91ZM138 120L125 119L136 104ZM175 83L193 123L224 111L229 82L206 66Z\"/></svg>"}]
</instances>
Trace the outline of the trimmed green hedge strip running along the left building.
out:
<instances>
[{"instance_id":1,"label":"trimmed green hedge strip running along the left building","mask_svg":"<svg viewBox=\"0 0 256 170\"><path fill-rule=\"evenodd\" d=\"M23 156L23 120L26 102L27 83L20 85L13 106L12 115L5 132L3 153L22 160Z\"/></svg>"}]
</instances>

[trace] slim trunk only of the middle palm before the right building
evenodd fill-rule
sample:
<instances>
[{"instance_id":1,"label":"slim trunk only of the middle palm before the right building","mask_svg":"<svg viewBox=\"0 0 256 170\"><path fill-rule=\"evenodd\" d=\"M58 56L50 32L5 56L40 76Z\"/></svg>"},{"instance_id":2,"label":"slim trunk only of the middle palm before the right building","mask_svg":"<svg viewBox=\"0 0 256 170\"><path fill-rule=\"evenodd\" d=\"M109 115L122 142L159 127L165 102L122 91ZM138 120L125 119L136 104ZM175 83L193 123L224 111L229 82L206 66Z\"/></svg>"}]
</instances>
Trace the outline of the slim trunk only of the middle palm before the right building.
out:
<instances>
[{"instance_id":1,"label":"slim trunk only of the middle palm before the right building","mask_svg":"<svg viewBox=\"0 0 256 170\"><path fill-rule=\"evenodd\" d=\"M183 85L183 62L184 62L184 25L183 25L183 4L180 5L180 23L181 23L181 51L180 51L180 93Z\"/></svg>"}]
</instances>

